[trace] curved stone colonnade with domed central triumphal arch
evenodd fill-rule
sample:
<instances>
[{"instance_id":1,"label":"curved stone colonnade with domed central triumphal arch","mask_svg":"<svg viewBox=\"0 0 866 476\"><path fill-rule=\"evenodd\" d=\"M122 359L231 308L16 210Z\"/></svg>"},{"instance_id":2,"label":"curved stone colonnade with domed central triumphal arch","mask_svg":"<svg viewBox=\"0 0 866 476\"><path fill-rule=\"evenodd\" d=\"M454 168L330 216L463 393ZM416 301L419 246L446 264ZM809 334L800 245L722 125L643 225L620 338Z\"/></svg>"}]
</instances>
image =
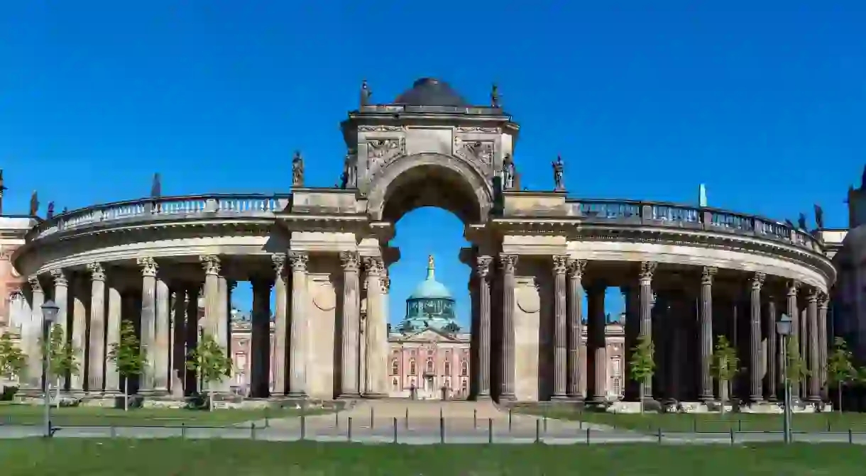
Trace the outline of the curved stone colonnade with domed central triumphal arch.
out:
<instances>
[{"instance_id":1,"label":"curved stone colonnade with domed central triumphal arch","mask_svg":"<svg viewBox=\"0 0 866 476\"><path fill-rule=\"evenodd\" d=\"M36 349L39 306L54 299L83 365L68 390L111 396L121 387L107 349L129 320L150 357L135 390L183 395L197 385L184 352L203 334L229 345L233 283L250 280L254 396L384 396L387 269L400 256L389 246L394 223L435 206L461 218L472 244L460 255L474 269L475 398L607 400L609 286L624 293L627 353L640 336L655 344L656 374L641 383L648 398L713 401L711 355L726 336L746 367L735 396L775 401L773 323L782 312L794 318L793 342L812 370L798 396L822 398L835 272L805 223L573 197L561 159L552 161L548 190L523 190L520 166L538 161L516 153L520 126L495 88L488 105L474 106L443 81L423 79L380 104L364 84L341 129L347 153L339 187L305 183L297 153L285 194L161 196L155 186L152 196L41 220L12 258L29 276L23 343ZM38 376L38 357L29 366ZM37 386L37 378L25 385ZM638 393L631 384L626 399Z\"/></svg>"}]
</instances>

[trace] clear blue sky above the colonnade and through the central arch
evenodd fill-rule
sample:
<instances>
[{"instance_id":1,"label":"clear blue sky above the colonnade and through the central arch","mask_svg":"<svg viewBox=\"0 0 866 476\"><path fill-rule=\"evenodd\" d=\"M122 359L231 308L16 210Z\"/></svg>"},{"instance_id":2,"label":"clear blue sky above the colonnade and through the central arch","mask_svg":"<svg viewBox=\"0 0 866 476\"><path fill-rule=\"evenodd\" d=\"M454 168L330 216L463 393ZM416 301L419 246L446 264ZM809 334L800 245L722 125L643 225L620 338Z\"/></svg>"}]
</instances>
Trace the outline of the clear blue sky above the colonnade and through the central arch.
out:
<instances>
[{"instance_id":1,"label":"clear blue sky above the colonnade and through the central arch","mask_svg":"<svg viewBox=\"0 0 866 476\"><path fill-rule=\"evenodd\" d=\"M866 162L862 1L135 4L0 6L7 213L35 189L42 213L145 196L156 171L165 194L287 191L295 149L333 185L363 78L380 102L422 76L478 103L498 82L524 184L550 189L561 153L574 196L694 203L706 183L712 206L821 203L841 227ZM392 320L427 254L465 319L460 222L418 210L397 233Z\"/></svg>"}]
</instances>

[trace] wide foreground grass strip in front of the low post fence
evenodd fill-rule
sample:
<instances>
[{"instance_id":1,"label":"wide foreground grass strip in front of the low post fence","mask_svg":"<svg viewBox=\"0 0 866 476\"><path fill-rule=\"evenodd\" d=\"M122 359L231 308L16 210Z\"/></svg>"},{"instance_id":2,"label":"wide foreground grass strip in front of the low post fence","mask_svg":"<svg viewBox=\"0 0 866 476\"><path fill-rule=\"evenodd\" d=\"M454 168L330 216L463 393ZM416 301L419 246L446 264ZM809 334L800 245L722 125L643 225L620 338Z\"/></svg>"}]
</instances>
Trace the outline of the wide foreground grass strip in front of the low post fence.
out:
<instances>
[{"instance_id":1,"label":"wide foreground grass strip in front of the low post fence","mask_svg":"<svg viewBox=\"0 0 866 476\"><path fill-rule=\"evenodd\" d=\"M860 474L863 448L848 445L363 446L228 440L4 441L4 476L237 474L749 476Z\"/></svg>"}]
</instances>

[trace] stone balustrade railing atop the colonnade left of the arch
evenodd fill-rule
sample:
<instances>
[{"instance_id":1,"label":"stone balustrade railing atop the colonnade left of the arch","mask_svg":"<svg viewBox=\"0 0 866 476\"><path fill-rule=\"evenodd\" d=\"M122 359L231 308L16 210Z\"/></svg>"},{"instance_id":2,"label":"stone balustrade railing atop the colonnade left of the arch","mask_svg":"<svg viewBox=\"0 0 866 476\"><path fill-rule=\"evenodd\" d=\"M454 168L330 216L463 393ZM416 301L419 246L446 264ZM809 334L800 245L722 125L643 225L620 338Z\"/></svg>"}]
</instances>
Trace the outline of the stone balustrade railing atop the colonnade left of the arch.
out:
<instances>
[{"instance_id":1,"label":"stone balustrade railing atop the colonnade left of the arch","mask_svg":"<svg viewBox=\"0 0 866 476\"><path fill-rule=\"evenodd\" d=\"M105 203L54 215L38 223L27 241L100 223L209 216L271 216L286 209L289 194L211 194L161 196Z\"/></svg>"}]
</instances>

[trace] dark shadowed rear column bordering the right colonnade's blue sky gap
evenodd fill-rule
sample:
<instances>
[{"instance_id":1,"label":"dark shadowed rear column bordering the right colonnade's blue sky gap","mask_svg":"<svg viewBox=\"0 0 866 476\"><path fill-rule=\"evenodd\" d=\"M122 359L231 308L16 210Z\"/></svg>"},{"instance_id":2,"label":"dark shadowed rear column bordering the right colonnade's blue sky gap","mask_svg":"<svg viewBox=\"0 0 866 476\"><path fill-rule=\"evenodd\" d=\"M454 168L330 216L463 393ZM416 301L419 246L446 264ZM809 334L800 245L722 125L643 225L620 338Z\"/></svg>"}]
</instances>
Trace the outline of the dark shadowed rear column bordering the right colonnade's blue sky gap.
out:
<instances>
[{"instance_id":1,"label":"dark shadowed rear column bordering the right colonnade's blue sky gap","mask_svg":"<svg viewBox=\"0 0 866 476\"><path fill-rule=\"evenodd\" d=\"M591 358L591 379L587 380L589 386L586 399L589 402L601 403L607 399L607 344L604 342L604 328L606 318L604 316L604 293L607 286L601 283L593 283L587 294L587 320L589 328L586 332L586 353Z\"/></svg>"}]
</instances>

